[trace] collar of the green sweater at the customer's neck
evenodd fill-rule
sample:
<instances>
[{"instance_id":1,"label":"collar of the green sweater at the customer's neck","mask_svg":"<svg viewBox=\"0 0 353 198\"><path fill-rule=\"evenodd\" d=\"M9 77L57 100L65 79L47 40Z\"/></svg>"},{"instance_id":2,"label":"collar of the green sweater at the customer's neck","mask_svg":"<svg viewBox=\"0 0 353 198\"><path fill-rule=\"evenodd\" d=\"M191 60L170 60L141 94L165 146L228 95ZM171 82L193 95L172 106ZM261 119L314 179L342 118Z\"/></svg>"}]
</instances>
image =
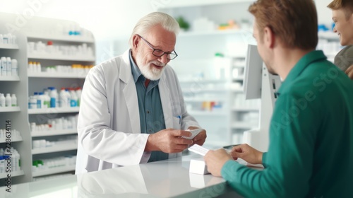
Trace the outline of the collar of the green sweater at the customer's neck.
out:
<instances>
[{"instance_id":1,"label":"collar of the green sweater at the customer's neck","mask_svg":"<svg viewBox=\"0 0 353 198\"><path fill-rule=\"evenodd\" d=\"M325 57L325 54L323 54L323 51L321 50L314 50L312 52L309 52L308 54L305 54L303 57L301 57L301 59L299 59L299 62L294 65L291 71L289 71L287 78L285 78L285 81L282 82L282 85L278 92L282 92L282 90L285 90L286 87L289 86L292 81L294 81L295 78L297 78L301 74L301 72L306 69L307 66L309 66L313 62L322 61L324 59L327 59L327 57Z\"/></svg>"}]
</instances>

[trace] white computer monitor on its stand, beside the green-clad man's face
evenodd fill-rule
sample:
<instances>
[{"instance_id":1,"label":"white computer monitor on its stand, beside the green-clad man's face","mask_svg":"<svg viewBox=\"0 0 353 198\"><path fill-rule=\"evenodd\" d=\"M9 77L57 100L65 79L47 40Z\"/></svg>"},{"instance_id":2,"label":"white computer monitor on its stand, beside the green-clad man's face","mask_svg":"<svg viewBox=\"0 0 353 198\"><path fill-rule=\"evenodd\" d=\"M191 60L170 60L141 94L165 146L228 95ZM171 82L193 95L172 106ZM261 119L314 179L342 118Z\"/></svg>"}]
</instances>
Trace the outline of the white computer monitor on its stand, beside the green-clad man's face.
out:
<instances>
[{"instance_id":1,"label":"white computer monitor on its stand, beside the green-clad man's face","mask_svg":"<svg viewBox=\"0 0 353 198\"><path fill-rule=\"evenodd\" d=\"M244 92L247 100L261 98L261 109L258 129L244 132L243 141L263 152L268 150L268 130L277 99L276 92L281 84L280 76L268 72L256 45L249 45L244 70Z\"/></svg>"}]
</instances>

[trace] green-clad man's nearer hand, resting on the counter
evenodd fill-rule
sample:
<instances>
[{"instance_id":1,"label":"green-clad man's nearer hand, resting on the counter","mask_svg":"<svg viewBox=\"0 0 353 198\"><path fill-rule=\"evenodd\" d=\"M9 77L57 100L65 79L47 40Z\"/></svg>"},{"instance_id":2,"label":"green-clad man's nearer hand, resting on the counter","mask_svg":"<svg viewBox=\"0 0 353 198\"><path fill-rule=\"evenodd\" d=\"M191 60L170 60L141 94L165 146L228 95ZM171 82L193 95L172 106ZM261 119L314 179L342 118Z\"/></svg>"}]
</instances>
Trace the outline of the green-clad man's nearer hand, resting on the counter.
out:
<instances>
[{"instance_id":1,"label":"green-clad man's nearer hand, resting on the counter","mask_svg":"<svg viewBox=\"0 0 353 198\"><path fill-rule=\"evenodd\" d=\"M225 165L227 161L232 160L232 156L230 156L225 149L210 150L203 158L205 159L208 172L216 177L222 176L221 170L223 165Z\"/></svg>"}]
</instances>

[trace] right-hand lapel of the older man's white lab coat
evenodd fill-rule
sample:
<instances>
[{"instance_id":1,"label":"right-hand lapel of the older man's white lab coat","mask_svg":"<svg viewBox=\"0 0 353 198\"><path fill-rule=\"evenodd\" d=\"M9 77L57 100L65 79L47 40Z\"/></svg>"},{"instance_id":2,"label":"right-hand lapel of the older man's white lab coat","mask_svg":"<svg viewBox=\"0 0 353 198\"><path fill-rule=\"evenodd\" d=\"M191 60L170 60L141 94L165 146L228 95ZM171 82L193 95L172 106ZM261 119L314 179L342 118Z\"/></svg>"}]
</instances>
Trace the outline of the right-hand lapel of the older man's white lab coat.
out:
<instances>
[{"instance_id":1,"label":"right-hand lapel of the older man's white lab coat","mask_svg":"<svg viewBox=\"0 0 353 198\"><path fill-rule=\"evenodd\" d=\"M164 71L165 72L165 71ZM158 88L160 89L160 100L163 108L165 127L174 128L173 117L172 117L172 98L170 98L169 88L165 83L165 75L160 78L160 83L158 83Z\"/></svg>"}]
</instances>

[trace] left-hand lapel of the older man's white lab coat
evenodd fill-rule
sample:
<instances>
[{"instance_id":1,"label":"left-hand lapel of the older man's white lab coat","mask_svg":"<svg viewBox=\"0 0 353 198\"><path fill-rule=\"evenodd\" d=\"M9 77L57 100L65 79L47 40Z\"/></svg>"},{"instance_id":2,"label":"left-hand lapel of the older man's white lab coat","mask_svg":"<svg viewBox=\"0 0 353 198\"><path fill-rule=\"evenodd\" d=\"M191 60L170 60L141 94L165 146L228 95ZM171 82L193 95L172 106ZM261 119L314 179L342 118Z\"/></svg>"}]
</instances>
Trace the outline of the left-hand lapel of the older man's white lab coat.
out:
<instances>
[{"instance_id":1,"label":"left-hand lapel of the older man's white lab coat","mask_svg":"<svg viewBox=\"0 0 353 198\"><path fill-rule=\"evenodd\" d=\"M126 86L123 88L123 93L126 101L126 107L128 108L128 117L131 122L132 133L138 134L140 133L140 113L138 112L136 85L133 81L130 60L128 59L129 52L130 51L128 50L123 55L119 78L121 81L126 83Z\"/></svg>"}]
</instances>

